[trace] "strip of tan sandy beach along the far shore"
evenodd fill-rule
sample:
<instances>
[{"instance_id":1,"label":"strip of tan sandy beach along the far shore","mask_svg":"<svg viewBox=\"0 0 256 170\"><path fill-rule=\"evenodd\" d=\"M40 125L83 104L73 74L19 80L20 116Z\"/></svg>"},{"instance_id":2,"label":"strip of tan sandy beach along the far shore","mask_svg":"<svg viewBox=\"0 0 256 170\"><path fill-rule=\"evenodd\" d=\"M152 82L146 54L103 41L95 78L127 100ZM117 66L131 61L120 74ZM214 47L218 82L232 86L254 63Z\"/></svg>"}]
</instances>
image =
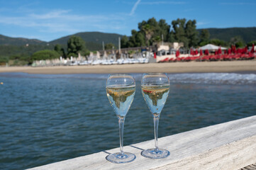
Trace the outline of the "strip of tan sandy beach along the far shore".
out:
<instances>
[{"instance_id":1,"label":"strip of tan sandy beach along the far shore","mask_svg":"<svg viewBox=\"0 0 256 170\"><path fill-rule=\"evenodd\" d=\"M0 72L25 72L30 74L256 72L256 60L232 62L167 62L149 64L85 65L55 67L0 67Z\"/></svg>"}]
</instances>

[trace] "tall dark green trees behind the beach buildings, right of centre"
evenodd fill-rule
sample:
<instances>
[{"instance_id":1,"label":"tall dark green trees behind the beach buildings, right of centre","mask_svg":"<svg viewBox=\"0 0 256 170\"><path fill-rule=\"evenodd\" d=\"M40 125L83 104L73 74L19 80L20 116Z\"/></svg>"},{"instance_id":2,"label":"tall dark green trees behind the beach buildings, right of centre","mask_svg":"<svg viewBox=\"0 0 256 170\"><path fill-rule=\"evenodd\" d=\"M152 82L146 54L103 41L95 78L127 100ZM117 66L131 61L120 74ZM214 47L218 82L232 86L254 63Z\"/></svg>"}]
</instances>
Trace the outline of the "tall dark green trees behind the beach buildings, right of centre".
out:
<instances>
[{"instance_id":1,"label":"tall dark green trees behind the beach buildings, right of centre","mask_svg":"<svg viewBox=\"0 0 256 170\"><path fill-rule=\"evenodd\" d=\"M121 47L141 47L152 45L153 42L183 42L184 47L199 47L211 43L228 47L245 47L246 43L240 36L231 38L229 42L219 39L210 39L210 33L207 29L200 32L196 30L196 20L187 21L185 18L177 18L172 21L171 26L165 19L157 21L150 18L148 21L138 23L138 30L131 30L131 36L126 35L121 39ZM252 41L247 43L251 45Z\"/></svg>"}]
</instances>

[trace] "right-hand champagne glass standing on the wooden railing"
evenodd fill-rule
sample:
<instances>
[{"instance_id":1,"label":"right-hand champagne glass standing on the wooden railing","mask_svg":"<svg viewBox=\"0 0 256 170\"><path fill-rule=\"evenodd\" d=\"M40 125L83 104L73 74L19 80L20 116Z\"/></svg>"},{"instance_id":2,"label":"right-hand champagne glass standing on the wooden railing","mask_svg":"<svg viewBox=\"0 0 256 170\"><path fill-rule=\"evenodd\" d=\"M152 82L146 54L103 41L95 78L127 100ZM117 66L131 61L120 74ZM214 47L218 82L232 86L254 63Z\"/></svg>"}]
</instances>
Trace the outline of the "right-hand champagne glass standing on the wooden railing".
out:
<instances>
[{"instance_id":1,"label":"right-hand champagne glass standing on the wooden railing","mask_svg":"<svg viewBox=\"0 0 256 170\"><path fill-rule=\"evenodd\" d=\"M143 74L141 80L143 97L152 113L154 119L155 148L146 149L141 152L143 157L161 159L169 156L169 151L158 148L157 133L160 113L165 106L169 94L169 78L166 73Z\"/></svg>"}]
</instances>

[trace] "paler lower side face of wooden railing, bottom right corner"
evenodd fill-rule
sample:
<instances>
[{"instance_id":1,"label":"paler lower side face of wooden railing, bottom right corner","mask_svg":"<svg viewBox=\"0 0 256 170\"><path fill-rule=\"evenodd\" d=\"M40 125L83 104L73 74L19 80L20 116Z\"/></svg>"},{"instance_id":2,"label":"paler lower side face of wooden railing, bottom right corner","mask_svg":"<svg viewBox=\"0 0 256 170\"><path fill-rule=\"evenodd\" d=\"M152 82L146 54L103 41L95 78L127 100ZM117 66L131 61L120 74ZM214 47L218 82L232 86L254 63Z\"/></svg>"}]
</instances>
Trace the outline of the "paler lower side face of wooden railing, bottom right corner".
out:
<instances>
[{"instance_id":1,"label":"paler lower side face of wooden railing, bottom right corner","mask_svg":"<svg viewBox=\"0 0 256 170\"><path fill-rule=\"evenodd\" d=\"M256 159L256 135L247 137L237 142L216 149L211 149L203 154L194 157L187 157L177 162L172 162L156 168L155 170L163 169L240 169L246 166L246 162L251 164ZM246 166L243 169L251 169Z\"/></svg>"}]
</instances>

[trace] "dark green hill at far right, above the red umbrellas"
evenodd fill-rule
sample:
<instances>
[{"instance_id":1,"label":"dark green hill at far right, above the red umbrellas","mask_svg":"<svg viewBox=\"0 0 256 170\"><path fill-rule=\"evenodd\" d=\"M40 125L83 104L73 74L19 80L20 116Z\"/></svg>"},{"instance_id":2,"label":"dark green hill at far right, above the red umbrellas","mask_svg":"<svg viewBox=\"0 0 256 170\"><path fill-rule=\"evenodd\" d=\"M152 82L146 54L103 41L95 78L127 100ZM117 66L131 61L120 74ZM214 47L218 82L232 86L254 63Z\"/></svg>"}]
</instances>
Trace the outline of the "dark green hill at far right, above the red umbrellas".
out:
<instances>
[{"instance_id":1,"label":"dark green hill at far right, above the red umbrellas","mask_svg":"<svg viewBox=\"0 0 256 170\"><path fill-rule=\"evenodd\" d=\"M201 32L202 29L198 29ZM210 39L230 41L235 36L240 36L245 42L256 40L256 27L250 28L206 28L210 33Z\"/></svg>"}]
</instances>

